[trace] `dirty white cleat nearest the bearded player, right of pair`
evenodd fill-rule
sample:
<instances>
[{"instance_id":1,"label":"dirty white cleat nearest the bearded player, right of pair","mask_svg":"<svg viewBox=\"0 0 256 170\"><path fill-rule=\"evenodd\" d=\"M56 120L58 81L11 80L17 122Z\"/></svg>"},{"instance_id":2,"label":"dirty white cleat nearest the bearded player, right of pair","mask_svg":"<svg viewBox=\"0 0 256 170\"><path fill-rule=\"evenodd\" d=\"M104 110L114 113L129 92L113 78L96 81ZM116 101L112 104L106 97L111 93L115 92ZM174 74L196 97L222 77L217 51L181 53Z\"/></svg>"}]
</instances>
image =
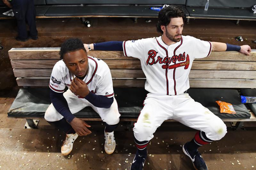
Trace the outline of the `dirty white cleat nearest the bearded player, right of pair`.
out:
<instances>
[{"instance_id":1,"label":"dirty white cleat nearest the bearded player, right of pair","mask_svg":"<svg viewBox=\"0 0 256 170\"><path fill-rule=\"evenodd\" d=\"M106 127L105 127L106 129ZM113 132L106 132L104 129L105 134L105 145L104 149L107 154L112 154L115 151L116 148L116 141L114 137L114 131Z\"/></svg>"}]
</instances>

